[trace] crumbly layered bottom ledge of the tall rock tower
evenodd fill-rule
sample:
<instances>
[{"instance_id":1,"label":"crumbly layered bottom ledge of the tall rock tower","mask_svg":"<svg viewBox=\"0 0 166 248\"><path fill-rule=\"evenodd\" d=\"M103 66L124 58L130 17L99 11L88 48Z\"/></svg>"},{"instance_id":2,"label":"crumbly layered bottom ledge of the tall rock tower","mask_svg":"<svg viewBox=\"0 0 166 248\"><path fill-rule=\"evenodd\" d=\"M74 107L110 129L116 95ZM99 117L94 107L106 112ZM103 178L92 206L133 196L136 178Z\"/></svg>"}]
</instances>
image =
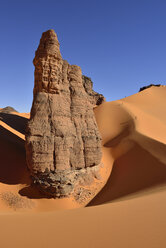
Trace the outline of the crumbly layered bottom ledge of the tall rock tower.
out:
<instances>
[{"instance_id":1,"label":"crumbly layered bottom ledge of the tall rock tower","mask_svg":"<svg viewBox=\"0 0 166 248\"><path fill-rule=\"evenodd\" d=\"M33 184L50 197L66 197L78 186L91 185L95 179L100 179L101 165L80 170L53 171L32 175Z\"/></svg>"}]
</instances>

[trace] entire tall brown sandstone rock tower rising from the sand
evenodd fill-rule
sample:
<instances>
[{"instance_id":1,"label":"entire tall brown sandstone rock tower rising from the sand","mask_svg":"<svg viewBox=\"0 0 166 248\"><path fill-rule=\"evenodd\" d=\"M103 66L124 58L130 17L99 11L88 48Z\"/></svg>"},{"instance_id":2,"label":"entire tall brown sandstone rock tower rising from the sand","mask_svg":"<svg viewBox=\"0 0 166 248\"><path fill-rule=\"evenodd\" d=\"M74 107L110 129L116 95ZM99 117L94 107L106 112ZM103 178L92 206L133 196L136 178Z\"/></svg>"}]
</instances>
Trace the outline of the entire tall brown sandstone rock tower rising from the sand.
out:
<instances>
[{"instance_id":1,"label":"entire tall brown sandstone rock tower rising from the sand","mask_svg":"<svg viewBox=\"0 0 166 248\"><path fill-rule=\"evenodd\" d=\"M53 30L35 53L35 85L26 130L27 164L47 195L68 196L80 181L91 183L101 163L101 137L93 106L104 97L80 67L63 60Z\"/></svg>"}]
</instances>

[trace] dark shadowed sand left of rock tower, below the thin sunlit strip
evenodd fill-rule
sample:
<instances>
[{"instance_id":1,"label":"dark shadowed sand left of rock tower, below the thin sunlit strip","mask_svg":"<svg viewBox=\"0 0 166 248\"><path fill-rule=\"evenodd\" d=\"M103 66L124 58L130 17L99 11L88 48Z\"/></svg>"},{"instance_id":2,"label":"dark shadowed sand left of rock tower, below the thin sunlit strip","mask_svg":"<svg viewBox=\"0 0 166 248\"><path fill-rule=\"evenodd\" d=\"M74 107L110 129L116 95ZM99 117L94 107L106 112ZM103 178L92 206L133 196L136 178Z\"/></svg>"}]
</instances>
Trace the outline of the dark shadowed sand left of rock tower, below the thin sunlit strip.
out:
<instances>
[{"instance_id":1,"label":"dark shadowed sand left of rock tower, below the thin sunlit strip","mask_svg":"<svg viewBox=\"0 0 166 248\"><path fill-rule=\"evenodd\" d=\"M0 126L0 182L26 184L28 171L24 140Z\"/></svg>"}]
</instances>

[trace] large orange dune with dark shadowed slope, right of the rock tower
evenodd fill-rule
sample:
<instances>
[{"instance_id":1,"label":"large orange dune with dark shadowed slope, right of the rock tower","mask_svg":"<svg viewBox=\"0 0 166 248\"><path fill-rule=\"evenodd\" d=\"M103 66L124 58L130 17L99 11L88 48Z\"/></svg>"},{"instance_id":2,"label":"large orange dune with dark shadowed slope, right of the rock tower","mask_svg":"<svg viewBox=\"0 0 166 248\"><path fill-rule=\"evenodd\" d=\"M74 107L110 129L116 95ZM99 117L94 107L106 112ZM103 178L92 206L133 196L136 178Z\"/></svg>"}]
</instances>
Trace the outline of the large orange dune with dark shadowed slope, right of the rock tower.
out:
<instances>
[{"instance_id":1,"label":"large orange dune with dark shadowed slope, right of the rock tower","mask_svg":"<svg viewBox=\"0 0 166 248\"><path fill-rule=\"evenodd\" d=\"M103 138L103 154L107 153L105 166L112 163L113 170L107 184L89 206L133 193L138 195L139 191L144 194L149 188L166 183L166 136L163 135L166 133L166 110L158 101L160 97L163 104L165 96L165 87L152 87L131 97L105 103L95 110ZM154 108L156 103L158 111Z\"/></svg>"}]
</instances>

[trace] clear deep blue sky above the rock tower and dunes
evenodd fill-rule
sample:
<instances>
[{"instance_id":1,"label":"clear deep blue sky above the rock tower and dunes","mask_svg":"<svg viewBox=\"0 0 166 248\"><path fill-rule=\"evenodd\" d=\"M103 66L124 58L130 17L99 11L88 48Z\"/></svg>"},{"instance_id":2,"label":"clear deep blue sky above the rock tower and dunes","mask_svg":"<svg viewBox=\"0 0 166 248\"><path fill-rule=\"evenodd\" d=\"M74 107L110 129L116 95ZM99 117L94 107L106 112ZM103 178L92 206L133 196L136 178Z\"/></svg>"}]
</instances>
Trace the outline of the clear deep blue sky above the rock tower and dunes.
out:
<instances>
[{"instance_id":1,"label":"clear deep blue sky above the rock tower and dunes","mask_svg":"<svg viewBox=\"0 0 166 248\"><path fill-rule=\"evenodd\" d=\"M0 0L0 107L30 111L32 60L48 29L107 101L166 84L166 0Z\"/></svg>"}]
</instances>

